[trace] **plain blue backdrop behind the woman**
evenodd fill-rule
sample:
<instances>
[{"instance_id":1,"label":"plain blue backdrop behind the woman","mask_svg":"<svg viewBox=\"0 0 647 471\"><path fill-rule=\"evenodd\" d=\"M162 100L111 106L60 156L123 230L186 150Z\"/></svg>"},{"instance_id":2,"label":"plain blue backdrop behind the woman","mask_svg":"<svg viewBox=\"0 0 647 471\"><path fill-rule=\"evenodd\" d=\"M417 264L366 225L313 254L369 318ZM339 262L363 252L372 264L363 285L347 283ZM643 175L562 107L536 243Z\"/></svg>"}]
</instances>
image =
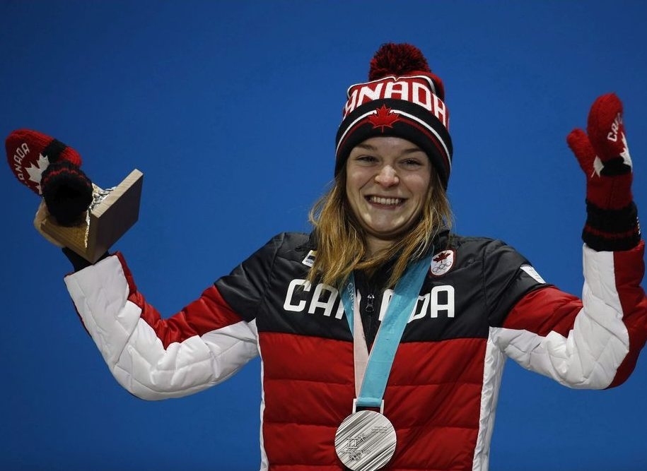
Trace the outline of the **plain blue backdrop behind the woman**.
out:
<instances>
[{"instance_id":1,"label":"plain blue backdrop behind the woman","mask_svg":"<svg viewBox=\"0 0 647 471\"><path fill-rule=\"evenodd\" d=\"M457 231L578 294L584 177L565 137L617 92L647 210L646 20L641 1L1 0L0 132L59 138L104 188L144 172L115 248L170 316L276 232L308 230L346 88L381 43L411 42L447 90ZM129 395L33 229L38 198L1 178L0 469L258 469L260 363L190 398ZM647 469L646 385L644 357L602 392L508 362L491 469Z\"/></svg>"}]
</instances>

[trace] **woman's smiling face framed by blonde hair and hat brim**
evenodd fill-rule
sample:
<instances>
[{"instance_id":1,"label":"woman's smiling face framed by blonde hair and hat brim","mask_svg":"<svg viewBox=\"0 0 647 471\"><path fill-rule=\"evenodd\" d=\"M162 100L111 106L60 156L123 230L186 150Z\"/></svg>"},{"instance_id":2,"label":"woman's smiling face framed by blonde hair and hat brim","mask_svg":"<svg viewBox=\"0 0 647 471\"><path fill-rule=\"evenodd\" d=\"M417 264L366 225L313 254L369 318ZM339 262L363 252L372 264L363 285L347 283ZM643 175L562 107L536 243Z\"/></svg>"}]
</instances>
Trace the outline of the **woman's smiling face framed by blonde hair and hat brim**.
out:
<instances>
[{"instance_id":1,"label":"woman's smiling face framed by blonde hair and hat brim","mask_svg":"<svg viewBox=\"0 0 647 471\"><path fill-rule=\"evenodd\" d=\"M393 242L416 222L431 185L431 163L417 145L376 137L346 161L346 198L371 242Z\"/></svg>"}]
</instances>

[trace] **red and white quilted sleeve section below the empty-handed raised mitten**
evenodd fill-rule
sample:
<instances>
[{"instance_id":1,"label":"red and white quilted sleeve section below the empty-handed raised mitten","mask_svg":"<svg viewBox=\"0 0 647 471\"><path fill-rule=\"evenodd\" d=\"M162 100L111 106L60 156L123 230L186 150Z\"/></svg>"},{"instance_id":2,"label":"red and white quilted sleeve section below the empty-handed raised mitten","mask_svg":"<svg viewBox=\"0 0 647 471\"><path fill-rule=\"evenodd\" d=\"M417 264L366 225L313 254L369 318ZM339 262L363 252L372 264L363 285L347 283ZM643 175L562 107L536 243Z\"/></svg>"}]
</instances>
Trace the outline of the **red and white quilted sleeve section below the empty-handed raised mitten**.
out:
<instances>
[{"instance_id":1,"label":"red and white quilted sleeve section below the empty-handed raised mitten","mask_svg":"<svg viewBox=\"0 0 647 471\"><path fill-rule=\"evenodd\" d=\"M582 298L545 286L525 294L491 339L527 369L571 388L624 382L647 338L640 286L644 242L628 251L583 248Z\"/></svg>"}]
</instances>

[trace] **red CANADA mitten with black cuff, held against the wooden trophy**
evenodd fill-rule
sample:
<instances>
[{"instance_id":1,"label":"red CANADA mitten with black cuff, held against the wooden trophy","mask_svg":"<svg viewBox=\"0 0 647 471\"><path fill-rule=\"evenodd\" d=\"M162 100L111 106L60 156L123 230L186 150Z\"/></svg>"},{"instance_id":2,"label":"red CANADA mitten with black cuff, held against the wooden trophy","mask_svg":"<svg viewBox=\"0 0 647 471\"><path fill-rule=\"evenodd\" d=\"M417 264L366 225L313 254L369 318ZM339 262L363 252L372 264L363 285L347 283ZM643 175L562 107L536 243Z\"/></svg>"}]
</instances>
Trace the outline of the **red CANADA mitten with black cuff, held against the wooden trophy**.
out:
<instances>
[{"instance_id":1,"label":"red CANADA mitten with black cuff, held against the wooden trophy","mask_svg":"<svg viewBox=\"0 0 647 471\"><path fill-rule=\"evenodd\" d=\"M60 225L75 225L92 203L92 183L81 171L81 155L64 143L29 129L6 138L9 166L19 181L42 195Z\"/></svg>"}]
</instances>

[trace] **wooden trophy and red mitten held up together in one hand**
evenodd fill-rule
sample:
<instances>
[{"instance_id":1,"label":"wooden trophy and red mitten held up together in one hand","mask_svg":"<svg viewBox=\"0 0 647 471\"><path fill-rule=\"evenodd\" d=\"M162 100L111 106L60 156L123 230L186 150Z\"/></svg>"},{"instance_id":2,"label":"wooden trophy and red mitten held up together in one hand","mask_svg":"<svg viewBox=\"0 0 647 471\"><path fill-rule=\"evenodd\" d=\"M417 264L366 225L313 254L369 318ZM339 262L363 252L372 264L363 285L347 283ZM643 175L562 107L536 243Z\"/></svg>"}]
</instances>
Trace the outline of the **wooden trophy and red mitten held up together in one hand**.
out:
<instances>
[{"instance_id":1,"label":"wooden trophy and red mitten held up together in one hand","mask_svg":"<svg viewBox=\"0 0 647 471\"><path fill-rule=\"evenodd\" d=\"M119 185L100 189L81 170L81 155L29 129L6 138L9 166L42 202L34 225L49 242L95 263L139 217L144 175L134 169Z\"/></svg>"}]
</instances>

